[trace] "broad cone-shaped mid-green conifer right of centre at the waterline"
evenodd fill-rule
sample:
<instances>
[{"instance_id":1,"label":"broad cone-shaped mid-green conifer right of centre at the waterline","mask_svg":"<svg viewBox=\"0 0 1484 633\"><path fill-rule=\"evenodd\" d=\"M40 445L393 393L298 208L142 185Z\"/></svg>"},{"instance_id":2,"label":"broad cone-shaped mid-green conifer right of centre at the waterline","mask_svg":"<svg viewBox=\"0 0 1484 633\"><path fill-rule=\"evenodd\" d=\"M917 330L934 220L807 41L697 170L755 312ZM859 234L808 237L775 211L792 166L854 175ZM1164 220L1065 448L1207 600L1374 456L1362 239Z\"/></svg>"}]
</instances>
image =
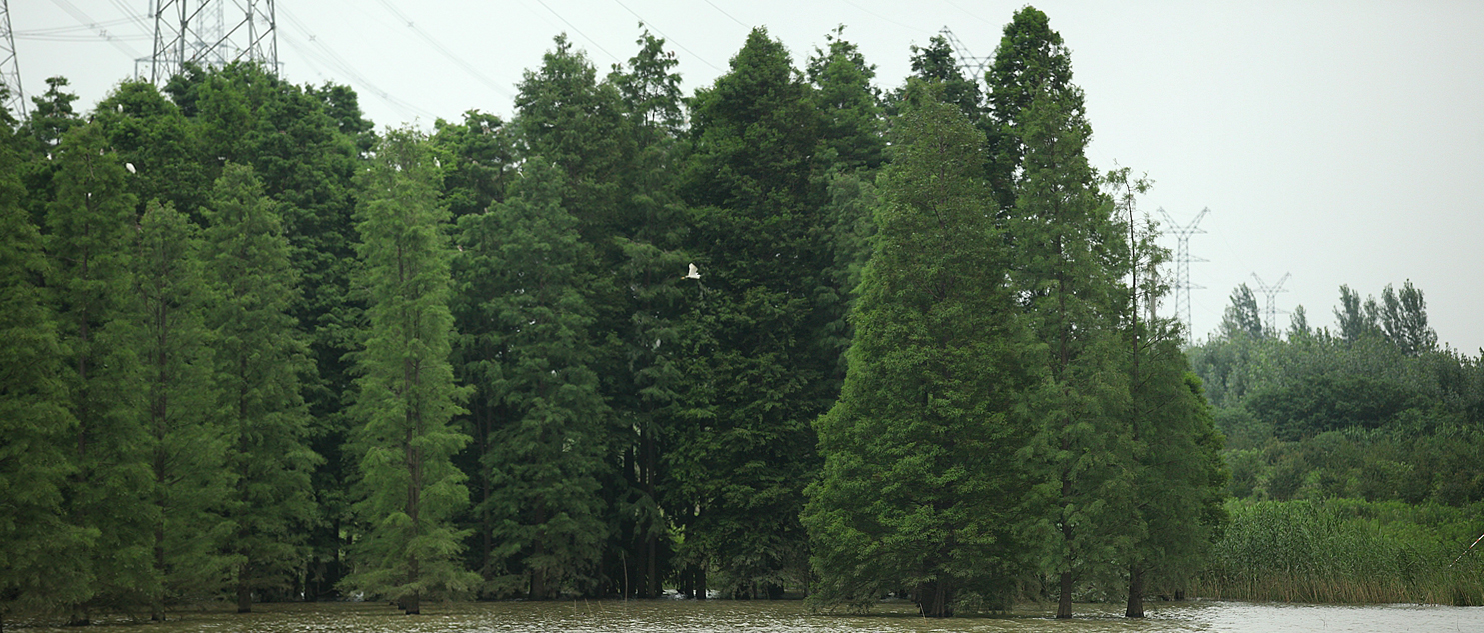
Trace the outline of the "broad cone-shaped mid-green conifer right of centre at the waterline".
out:
<instances>
[{"instance_id":1,"label":"broad cone-shaped mid-green conifer right of centre at the waterline","mask_svg":"<svg viewBox=\"0 0 1484 633\"><path fill-rule=\"evenodd\" d=\"M951 104L896 125L849 374L815 422L825 464L804 525L822 603L865 608L907 587L923 615L947 617L962 594L1014 600L1034 342L984 213L982 145Z\"/></svg>"}]
</instances>

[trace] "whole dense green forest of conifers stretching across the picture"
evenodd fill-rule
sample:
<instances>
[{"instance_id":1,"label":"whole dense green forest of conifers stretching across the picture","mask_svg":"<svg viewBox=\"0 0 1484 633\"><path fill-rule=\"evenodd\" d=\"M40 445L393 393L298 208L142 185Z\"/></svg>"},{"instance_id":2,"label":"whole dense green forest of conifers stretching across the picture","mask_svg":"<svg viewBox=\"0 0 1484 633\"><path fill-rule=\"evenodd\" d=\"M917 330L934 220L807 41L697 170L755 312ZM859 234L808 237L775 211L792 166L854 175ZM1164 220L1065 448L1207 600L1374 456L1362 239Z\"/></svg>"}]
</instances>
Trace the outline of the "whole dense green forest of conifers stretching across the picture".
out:
<instances>
[{"instance_id":1,"label":"whole dense green forest of conifers stretching across the picture","mask_svg":"<svg viewBox=\"0 0 1484 633\"><path fill-rule=\"evenodd\" d=\"M1346 288L1342 332L1284 335L1239 289L1189 345L1152 182L1088 163L1045 13L982 79L933 39L880 89L825 42L795 67L757 28L686 96L647 31L608 73L559 36L509 120L430 130L255 65L91 113L47 80L0 114L0 617L1140 617L1307 596L1241 557L1272 517L1468 544L1484 371L1420 291ZM1469 600L1468 569L1426 599Z\"/></svg>"}]
</instances>

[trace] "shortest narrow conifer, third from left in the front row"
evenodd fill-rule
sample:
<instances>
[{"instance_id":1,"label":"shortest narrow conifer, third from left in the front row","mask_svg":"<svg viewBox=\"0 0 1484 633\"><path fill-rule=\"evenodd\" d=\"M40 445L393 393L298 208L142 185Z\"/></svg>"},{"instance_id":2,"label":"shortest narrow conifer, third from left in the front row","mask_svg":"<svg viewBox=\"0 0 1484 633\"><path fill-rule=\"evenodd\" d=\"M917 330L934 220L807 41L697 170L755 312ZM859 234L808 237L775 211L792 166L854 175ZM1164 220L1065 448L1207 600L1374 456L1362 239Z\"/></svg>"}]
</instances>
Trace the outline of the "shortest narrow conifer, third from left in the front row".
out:
<instances>
[{"instance_id":1,"label":"shortest narrow conifer, third from left in the front row","mask_svg":"<svg viewBox=\"0 0 1484 633\"><path fill-rule=\"evenodd\" d=\"M233 529L226 517L236 479L226 464L233 437L217 409L199 228L172 205L151 200L132 251L128 316L150 434L151 563L163 583L150 617L165 620L166 602L212 599L230 577L221 546Z\"/></svg>"}]
</instances>

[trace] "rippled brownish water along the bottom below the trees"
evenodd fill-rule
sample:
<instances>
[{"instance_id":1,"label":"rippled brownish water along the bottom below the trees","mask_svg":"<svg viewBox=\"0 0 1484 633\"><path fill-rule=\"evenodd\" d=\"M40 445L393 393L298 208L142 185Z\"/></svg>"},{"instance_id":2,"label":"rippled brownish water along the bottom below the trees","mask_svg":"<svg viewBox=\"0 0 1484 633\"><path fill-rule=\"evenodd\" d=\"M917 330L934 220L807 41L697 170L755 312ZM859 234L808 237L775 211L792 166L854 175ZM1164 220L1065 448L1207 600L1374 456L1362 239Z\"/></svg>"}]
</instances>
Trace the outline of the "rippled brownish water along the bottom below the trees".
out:
<instances>
[{"instance_id":1,"label":"rippled brownish water along the bottom below the trees","mask_svg":"<svg viewBox=\"0 0 1484 633\"><path fill-rule=\"evenodd\" d=\"M812 614L801 602L577 600L424 603L423 615L402 615L384 603L255 605L252 614L187 611L148 624L150 633L928 633L928 632L1481 632L1484 608L1417 605L1279 605L1183 602L1149 605L1144 620L1126 620L1122 606L1077 605L1077 618L1022 608L1008 617L923 620L911 605L881 605L871 615ZM122 621L120 621L122 623ZM7 623L10 624L10 623ZM18 627L16 632L77 633L79 629ZM92 629L98 630L98 629ZM114 627L114 630L138 630Z\"/></svg>"}]
</instances>

